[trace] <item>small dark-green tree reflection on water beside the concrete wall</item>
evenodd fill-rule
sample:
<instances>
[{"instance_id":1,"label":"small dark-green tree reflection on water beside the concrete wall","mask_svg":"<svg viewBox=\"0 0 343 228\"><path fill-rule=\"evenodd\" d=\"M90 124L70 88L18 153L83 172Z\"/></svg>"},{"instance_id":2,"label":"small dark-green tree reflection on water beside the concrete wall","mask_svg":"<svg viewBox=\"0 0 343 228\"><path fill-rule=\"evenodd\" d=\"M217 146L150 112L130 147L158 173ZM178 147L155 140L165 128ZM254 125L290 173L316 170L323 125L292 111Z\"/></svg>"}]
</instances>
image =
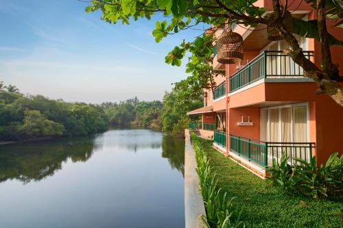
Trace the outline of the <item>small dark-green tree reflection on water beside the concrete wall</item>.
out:
<instances>
[{"instance_id":1,"label":"small dark-green tree reflection on water beside the concrete wall","mask_svg":"<svg viewBox=\"0 0 343 228\"><path fill-rule=\"evenodd\" d=\"M162 157L168 159L171 168L185 176L185 140L165 135L162 139Z\"/></svg>"}]
</instances>

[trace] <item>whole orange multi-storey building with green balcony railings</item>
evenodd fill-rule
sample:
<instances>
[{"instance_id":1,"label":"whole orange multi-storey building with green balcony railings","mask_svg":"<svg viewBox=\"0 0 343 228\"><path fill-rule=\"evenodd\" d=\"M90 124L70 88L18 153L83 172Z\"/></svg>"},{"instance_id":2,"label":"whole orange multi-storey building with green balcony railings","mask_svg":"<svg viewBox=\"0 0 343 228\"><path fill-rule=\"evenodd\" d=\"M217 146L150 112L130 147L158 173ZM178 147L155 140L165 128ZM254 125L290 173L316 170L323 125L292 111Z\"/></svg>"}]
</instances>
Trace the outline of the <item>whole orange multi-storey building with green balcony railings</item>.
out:
<instances>
[{"instance_id":1,"label":"whole orange multi-storey building with green balcony railings","mask_svg":"<svg viewBox=\"0 0 343 228\"><path fill-rule=\"evenodd\" d=\"M300 0L297 0L300 1ZM272 11L271 1L256 4ZM314 10L303 1L289 9L292 16L309 20ZM244 39L244 60L238 64L220 64L216 50L213 69L214 90L204 90L204 107L189 112L201 114L201 123L191 123L203 138L213 139L213 147L238 160L258 175L272 160L289 155L289 163L298 157L309 161L314 155L318 165L329 155L343 152L343 107L327 94L316 94L317 84L303 77L303 69L283 53L284 40L270 41L265 25L231 29ZM342 29L328 27L342 40ZM215 31L219 37L224 29ZM320 65L320 44L312 38L297 37L305 55ZM215 48L215 47L214 47ZM331 47L333 62L343 72L342 47Z\"/></svg>"}]
</instances>

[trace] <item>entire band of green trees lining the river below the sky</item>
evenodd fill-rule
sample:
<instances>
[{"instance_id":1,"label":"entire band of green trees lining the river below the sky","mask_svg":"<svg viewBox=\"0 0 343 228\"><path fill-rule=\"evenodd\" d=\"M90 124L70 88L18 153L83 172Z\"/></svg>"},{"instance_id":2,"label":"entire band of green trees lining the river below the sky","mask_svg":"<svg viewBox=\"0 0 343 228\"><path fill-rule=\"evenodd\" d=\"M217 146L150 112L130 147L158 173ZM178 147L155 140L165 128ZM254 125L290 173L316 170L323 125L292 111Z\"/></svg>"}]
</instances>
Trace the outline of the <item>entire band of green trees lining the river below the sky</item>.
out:
<instances>
[{"instance_id":1,"label":"entire band of green trees lining the river below the sky","mask_svg":"<svg viewBox=\"0 0 343 228\"><path fill-rule=\"evenodd\" d=\"M86 136L114 127L144 127L182 136L189 123L186 112L200 101L183 102L175 91L161 101L137 97L100 105L71 103L42 95L25 95L0 81L0 140L29 140L56 136Z\"/></svg>"}]
</instances>

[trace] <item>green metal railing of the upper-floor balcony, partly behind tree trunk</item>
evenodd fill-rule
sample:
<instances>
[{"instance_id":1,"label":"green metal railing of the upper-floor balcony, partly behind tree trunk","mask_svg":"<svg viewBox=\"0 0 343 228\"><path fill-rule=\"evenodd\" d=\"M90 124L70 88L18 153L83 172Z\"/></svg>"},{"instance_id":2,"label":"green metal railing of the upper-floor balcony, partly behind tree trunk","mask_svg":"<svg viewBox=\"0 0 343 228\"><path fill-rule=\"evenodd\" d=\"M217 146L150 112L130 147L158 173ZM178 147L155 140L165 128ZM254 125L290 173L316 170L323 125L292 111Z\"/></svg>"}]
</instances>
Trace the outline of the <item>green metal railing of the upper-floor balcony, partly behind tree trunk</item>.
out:
<instances>
[{"instance_id":1,"label":"green metal railing of the upper-floor balcony, partly behind tree trunk","mask_svg":"<svg viewBox=\"0 0 343 228\"><path fill-rule=\"evenodd\" d=\"M303 51L313 61L313 51ZM303 68L283 51L264 51L230 77L230 92L243 88L262 78L303 77Z\"/></svg>"}]
</instances>

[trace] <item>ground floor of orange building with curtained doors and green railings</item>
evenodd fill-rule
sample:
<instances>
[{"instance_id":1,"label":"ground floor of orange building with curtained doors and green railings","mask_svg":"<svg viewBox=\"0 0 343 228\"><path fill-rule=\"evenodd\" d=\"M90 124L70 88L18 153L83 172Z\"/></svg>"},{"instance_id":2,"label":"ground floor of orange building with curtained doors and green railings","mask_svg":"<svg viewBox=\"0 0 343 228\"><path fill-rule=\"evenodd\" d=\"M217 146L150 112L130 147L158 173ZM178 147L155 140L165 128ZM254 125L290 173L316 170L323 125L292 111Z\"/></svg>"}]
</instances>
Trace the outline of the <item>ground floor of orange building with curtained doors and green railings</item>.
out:
<instances>
[{"instance_id":1,"label":"ground floor of orange building with curtained doors and green railings","mask_svg":"<svg viewBox=\"0 0 343 228\"><path fill-rule=\"evenodd\" d=\"M213 147L265 177L265 168L281 155L289 164L316 156L318 164L343 151L343 109L330 99L309 102L265 101L224 112L206 112L190 124Z\"/></svg>"}]
</instances>

